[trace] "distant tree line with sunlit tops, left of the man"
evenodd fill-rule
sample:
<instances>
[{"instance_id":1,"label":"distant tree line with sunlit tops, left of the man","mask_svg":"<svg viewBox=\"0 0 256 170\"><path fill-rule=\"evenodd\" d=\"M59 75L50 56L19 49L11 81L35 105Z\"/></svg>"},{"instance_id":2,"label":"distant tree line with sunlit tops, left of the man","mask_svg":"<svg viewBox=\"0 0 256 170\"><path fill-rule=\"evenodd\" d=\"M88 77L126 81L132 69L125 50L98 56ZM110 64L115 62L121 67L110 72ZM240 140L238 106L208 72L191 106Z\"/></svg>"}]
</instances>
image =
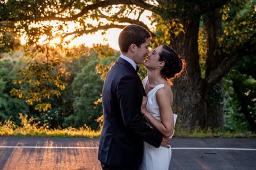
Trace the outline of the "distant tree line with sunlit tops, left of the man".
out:
<instances>
[{"instance_id":1,"label":"distant tree line with sunlit tops, left of the man","mask_svg":"<svg viewBox=\"0 0 256 170\"><path fill-rule=\"evenodd\" d=\"M104 45L101 45L101 48ZM74 56L68 59L68 55L74 55L74 52L79 50L79 56ZM35 81L20 82L20 70L29 68L29 54L26 52L15 52L12 56L6 54L0 59L0 121L11 119L19 125L19 112L28 114L37 118L42 125L47 125L49 128L65 128L65 127L82 127L87 125L92 129L99 128L99 122L96 121L102 115L102 104L97 104L100 99L103 81L100 79L100 74L97 73L95 67L97 65L108 66L111 61L116 60L117 51L109 48L112 51L110 57L100 56L99 51L83 47L83 45L76 49L67 49L68 53L61 58L60 70L65 69L65 76L61 77L61 81L65 84L65 89L60 90L60 95L51 95L49 97L42 97L32 104L28 102L28 98L10 93L13 88L17 91L29 91L31 86L36 86ZM19 56L20 55L20 56ZM75 54L76 55L76 54ZM51 61L49 61L51 62ZM43 63L43 61L38 61ZM28 71L28 70L27 70ZM44 72L35 70L29 72L29 75L36 77L36 75L44 74ZM54 74L54 73L52 73ZM38 77L38 76L37 76ZM21 80L20 80L21 81ZM35 85L36 84L36 85ZM41 83L42 84L42 83ZM44 84L41 91L52 91L54 84ZM57 91L57 90L56 90ZM35 93L33 91L32 93ZM36 109L38 104L49 104L50 108Z\"/></svg>"}]
</instances>

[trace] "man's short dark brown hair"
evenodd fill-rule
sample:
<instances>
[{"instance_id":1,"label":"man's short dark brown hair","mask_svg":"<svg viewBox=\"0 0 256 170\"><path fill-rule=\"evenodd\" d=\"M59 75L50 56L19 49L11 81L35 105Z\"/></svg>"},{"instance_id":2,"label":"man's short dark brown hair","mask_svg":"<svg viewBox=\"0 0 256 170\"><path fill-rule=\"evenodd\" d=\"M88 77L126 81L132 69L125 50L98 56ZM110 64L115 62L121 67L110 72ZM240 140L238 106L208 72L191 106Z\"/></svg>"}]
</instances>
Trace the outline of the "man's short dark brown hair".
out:
<instances>
[{"instance_id":1,"label":"man's short dark brown hair","mask_svg":"<svg viewBox=\"0 0 256 170\"><path fill-rule=\"evenodd\" d=\"M128 49L132 43L140 48L142 43L146 42L147 38L151 38L147 29L132 24L124 27L118 38L118 45L121 52L128 52Z\"/></svg>"}]
</instances>

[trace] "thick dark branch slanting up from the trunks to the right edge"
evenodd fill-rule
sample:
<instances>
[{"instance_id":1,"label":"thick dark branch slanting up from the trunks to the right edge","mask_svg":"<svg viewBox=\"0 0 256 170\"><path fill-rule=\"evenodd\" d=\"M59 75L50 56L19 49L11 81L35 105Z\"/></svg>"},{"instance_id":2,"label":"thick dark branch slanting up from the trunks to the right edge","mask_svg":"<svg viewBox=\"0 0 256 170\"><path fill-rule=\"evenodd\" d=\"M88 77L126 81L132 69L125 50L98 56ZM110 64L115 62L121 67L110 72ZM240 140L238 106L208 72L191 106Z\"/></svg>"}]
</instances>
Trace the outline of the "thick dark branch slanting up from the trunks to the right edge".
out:
<instances>
[{"instance_id":1,"label":"thick dark branch slanting up from the trunks to the right edge","mask_svg":"<svg viewBox=\"0 0 256 170\"><path fill-rule=\"evenodd\" d=\"M243 58L243 56L256 54L255 42L256 33L254 33L241 48L230 52L230 54L228 54L228 56L220 63L218 68L212 70L212 72L209 73L209 76L205 77L205 87L211 88L214 84L220 81L221 77L223 77L232 66L239 61L239 59Z\"/></svg>"}]
</instances>

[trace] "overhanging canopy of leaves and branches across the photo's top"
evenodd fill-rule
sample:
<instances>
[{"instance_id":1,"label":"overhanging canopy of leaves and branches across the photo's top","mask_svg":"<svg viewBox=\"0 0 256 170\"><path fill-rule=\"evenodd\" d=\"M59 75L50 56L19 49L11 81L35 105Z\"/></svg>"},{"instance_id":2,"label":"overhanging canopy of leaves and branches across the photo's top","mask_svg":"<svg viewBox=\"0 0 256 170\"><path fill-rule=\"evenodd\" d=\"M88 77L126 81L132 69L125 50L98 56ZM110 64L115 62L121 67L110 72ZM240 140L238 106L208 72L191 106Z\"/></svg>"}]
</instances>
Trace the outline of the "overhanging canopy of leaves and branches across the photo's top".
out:
<instances>
[{"instance_id":1,"label":"overhanging canopy of leaves and branches across the photo's top","mask_svg":"<svg viewBox=\"0 0 256 170\"><path fill-rule=\"evenodd\" d=\"M159 40L156 38L157 45L159 43L170 44L172 40L177 40L175 36L188 34L186 33L188 30L184 30L187 22L196 23L202 20L208 27L207 49L215 50L218 46L218 56L221 56L218 67L209 66L211 58L206 63L206 74L209 74L209 77L205 77L207 84L218 82L220 77L223 77L223 74L238 60L238 56L243 56L244 52L255 52L255 1L9 0L1 1L0 8L2 49L3 46L6 48L15 45L17 40L11 40L12 35L26 34L27 43L34 45L38 43L42 35L47 36L46 43L56 36L61 38L61 42L65 42L67 36L76 38L98 30L122 28L127 23L139 24L150 30L153 35L160 35L157 36L160 37ZM152 22L157 23L156 30L149 29L140 20L145 10L154 13ZM92 24L88 22L88 19L98 22ZM44 26L40 25L43 22ZM52 22L56 24L53 25ZM77 24L75 31L67 31L70 22ZM214 27L211 24L217 25ZM213 42L216 36L218 36L218 41ZM13 37L17 39L17 36ZM182 44L180 46L183 47ZM214 56L216 58L217 54Z\"/></svg>"}]
</instances>

